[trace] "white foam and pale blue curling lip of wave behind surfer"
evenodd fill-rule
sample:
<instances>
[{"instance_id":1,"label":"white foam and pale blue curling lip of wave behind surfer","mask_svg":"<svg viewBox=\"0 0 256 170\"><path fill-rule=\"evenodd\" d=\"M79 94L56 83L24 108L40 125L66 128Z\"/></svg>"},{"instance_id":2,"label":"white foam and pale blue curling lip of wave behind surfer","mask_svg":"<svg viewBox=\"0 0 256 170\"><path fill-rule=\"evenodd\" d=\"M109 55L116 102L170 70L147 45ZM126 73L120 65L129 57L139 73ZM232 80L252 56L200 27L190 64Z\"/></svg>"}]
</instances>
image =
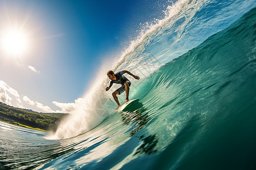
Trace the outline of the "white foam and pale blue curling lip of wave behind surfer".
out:
<instances>
[{"instance_id":1,"label":"white foam and pale blue curling lip of wave behind surfer","mask_svg":"<svg viewBox=\"0 0 256 170\"><path fill-rule=\"evenodd\" d=\"M166 15L163 19L145 24L146 26L141 29L141 34L130 42L128 48L123 50L121 57L115 58L116 63L110 61L102 63L97 71L97 77L92 82L92 86L86 90L76 110L67 120L63 121L52 138L74 137L93 129L104 120L104 117L99 116L97 112L97 103L101 99L112 98L112 92L105 91L105 87L109 85L106 76L109 68L114 68L113 71L129 70L141 76L139 81L131 78L132 90L129 97L132 99L137 87L161 65L188 52L210 35L228 27L230 23L240 18L243 14L242 9L247 5L240 2L234 3L238 3L236 6L240 10L230 8L225 15L219 10L209 10L212 7L218 9L218 6L221 6L221 3L217 1L180 0L168 6L164 11ZM212 13L208 17L205 16L205 11ZM113 89L115 86L112 87ZM122 95L118 97L119 101L122 98L125 99Z\"/></svg>"}]
</instances>

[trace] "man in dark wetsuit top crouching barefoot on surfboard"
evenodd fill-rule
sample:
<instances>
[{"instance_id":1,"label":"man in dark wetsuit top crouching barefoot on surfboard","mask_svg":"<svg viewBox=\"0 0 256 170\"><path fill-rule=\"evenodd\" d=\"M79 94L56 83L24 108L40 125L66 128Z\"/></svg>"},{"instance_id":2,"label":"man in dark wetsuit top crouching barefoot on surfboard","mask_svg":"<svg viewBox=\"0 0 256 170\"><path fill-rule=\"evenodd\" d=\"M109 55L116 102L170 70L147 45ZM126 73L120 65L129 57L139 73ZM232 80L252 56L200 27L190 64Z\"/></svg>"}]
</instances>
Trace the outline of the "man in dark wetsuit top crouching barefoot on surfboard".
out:
<instances>
[{"instance_id":1,"label":"man in dark wetsuit top crouching barefoot on surfboard","mask_svg":"<svg viewBox=\"0 0 256 170\"><path fill-rule=\"evenodd\" d=\"M110 85L109 87L106 87L106 91L108 91L110 89L110 87L112 87L113 83L117 83L117 84L121 84L122 86L119 87L117 90L115 90L112 95L114 97L114 100L115 102L117 102L117 108L115 109L118 109L121 105L118 101L118 98L117 98L117 94L118 95L121 95L122 92L126 92L126 100L125 102L129 101L129 90L130 90L130 86L131 86L131 82L129 79L127 79L123 74L130 74L131 76L133 76L135 79L139 80L139 76L137 75L133 75L130 71L127 71L127 70L122 70L122 71L119 71L118 73L114 73L114 71L112 70L109 70L107 75L109 77L109 79L111 80L110 81Z\"/></svg>"}]
</instances>

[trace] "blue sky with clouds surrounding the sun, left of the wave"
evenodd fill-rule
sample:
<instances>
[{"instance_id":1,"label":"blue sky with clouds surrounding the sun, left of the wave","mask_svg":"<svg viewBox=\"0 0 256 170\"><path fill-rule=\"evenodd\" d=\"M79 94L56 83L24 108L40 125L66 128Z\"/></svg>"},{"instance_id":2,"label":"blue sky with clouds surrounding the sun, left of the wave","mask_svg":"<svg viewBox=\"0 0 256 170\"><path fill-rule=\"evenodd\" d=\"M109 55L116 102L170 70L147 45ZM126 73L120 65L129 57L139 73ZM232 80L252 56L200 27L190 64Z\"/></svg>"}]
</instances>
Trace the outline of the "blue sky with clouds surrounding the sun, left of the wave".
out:
<instances>
[{"instance_id":1,"label":"blue sky with clouds surrounding the sun, left of the wave","mask_svg":"<svg viewBox=\"0 0 256 170\"><path fill-rule=\"evenodd\" d=\"M89 88L102 59L121 55L138 35L140 23L162 17L165 5L165 1L0 1L1 39L6 30L18 28L29 42L26 52L16 56L0 49L0 101L36 111L43 107L46 111L47 106L56 111L52 101L74 102Z\"/></svg>"}]
</instances>

